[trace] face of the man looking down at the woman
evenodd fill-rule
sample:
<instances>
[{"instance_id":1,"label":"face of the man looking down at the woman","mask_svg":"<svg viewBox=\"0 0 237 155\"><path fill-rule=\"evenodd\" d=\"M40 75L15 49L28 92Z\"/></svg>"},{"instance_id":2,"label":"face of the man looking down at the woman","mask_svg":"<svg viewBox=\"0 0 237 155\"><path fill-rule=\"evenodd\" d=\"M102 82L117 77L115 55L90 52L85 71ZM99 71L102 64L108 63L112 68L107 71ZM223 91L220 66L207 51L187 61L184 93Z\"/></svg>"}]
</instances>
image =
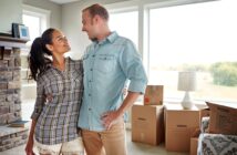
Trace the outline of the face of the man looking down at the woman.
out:
<instances>
[{"instance_id":1,"label":"face of the man looking down at the woman","mask_svg":"<svg viewBox=\"0 0 237 155\"><path fill-rule=\"evenodd\" d=\"M82 31L85 31L89 35L89 39L92 41L96 40L96 27L94 18L91 17L89 11L82 12Z\"/></svg>"}]
</instances>

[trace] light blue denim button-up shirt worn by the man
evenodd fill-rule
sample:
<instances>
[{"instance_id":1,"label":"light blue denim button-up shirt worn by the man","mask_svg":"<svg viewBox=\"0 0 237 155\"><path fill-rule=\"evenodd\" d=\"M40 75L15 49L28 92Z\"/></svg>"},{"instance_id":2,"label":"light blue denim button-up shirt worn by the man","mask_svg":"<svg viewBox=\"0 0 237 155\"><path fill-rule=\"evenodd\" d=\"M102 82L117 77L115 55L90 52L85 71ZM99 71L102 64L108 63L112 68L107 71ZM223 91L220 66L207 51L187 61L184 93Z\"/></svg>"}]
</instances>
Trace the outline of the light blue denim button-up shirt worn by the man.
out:
<instances>
[{"instance_id":1,"label":"light blue denim button-up shirt worn by the man","mask_svg":"<svg viewBox=\"0 0 237 155\"><path fill-rule=\"evenodd\" d=\"M144 93L147 84L142 60L131 40L112 32L106 39L93 42L83 55L84 94L79 127L101 132L101 116L123 103L123 87Z\"/></svg>"}]
</instances>

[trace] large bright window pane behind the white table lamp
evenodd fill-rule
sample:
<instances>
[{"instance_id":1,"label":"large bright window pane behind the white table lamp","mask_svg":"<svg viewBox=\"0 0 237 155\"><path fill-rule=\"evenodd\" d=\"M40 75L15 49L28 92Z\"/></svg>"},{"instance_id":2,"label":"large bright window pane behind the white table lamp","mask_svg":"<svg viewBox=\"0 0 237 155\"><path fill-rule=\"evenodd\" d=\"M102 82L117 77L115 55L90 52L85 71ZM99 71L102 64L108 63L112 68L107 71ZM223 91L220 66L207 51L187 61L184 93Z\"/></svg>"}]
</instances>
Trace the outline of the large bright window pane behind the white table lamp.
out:
<instances>
[{"instance_id":1,"label":"large bright window pane behind the white table lamp","mask_svg":"<svg viewBox=\"0 0 237 155\"><path fill-rule=\"evenodd\" d=\"M150 9L150 84L181 99L178 71L197 72L196 100L237 101L237 1Z\"/></svg>"}]
</instances>

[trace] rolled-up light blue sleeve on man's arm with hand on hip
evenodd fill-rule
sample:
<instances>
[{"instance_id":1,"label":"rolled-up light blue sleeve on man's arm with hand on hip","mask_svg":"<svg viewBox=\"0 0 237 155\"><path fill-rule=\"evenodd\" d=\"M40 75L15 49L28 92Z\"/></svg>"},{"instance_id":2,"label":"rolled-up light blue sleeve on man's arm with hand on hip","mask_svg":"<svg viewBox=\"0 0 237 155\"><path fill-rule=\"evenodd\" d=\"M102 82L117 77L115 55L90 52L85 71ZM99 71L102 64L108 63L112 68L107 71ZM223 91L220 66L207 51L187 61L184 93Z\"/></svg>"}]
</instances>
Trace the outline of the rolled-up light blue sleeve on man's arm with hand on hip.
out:
<instances>
[{"instance_id":1,"label":"rolled-up light blue sleeve on man's arm with hand on hip","mask_svg":"<svg viewBox=\"0 0 237 155\"><path fill-rule=\"evenodd\" d=\"M124 42L120 63L124 74L130 80L128 91L144 94L147 85L147 76L141 56L130 40Z\"/></svg>"}]
</instances>

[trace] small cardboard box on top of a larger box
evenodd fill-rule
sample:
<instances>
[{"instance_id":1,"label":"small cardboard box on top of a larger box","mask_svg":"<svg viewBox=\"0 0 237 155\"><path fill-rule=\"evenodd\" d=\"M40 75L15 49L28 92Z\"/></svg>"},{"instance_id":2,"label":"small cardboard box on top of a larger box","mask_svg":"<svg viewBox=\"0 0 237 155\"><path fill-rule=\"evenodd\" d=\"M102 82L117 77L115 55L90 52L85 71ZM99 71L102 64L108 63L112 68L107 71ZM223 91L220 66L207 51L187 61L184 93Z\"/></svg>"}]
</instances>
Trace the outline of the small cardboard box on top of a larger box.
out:
<instances>
[{"instance_id":1,"label":"small cardboard box on top of a larger box","mask_svg":"<svg viewBox=\"0 0 237 155\"><path fill-rule=\"evenodd\" d=\"M144 105L162 105L163 87L163 85L147 85L144 94Z\"/></svg>"}]
</instances>

